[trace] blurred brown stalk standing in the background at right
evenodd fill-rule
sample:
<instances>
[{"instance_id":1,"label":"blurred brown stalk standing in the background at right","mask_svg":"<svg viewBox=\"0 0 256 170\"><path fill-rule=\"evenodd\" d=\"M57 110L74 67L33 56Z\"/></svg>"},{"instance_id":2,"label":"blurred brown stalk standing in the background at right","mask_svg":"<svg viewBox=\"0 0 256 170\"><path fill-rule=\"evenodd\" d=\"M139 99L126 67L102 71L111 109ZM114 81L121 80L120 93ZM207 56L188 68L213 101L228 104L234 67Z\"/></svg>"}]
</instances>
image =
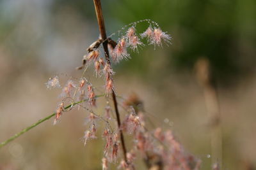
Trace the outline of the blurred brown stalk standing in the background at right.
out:
<instances>
[{"instance_id":1,"label":"blurred brown stalk standing in the background at right","mask_svg":"<svg viewBox=\"0 0 256 170\"><path fill-rule=\"evenodd\" d=\"M209 60L198 59L195 64L196 78L204 90L205 105L209 116L209 127L211 129L211 157L212 164L222 164L222 131L221 114L218 100L217 88L212 76Z\"/></svg>"}]
</instances>

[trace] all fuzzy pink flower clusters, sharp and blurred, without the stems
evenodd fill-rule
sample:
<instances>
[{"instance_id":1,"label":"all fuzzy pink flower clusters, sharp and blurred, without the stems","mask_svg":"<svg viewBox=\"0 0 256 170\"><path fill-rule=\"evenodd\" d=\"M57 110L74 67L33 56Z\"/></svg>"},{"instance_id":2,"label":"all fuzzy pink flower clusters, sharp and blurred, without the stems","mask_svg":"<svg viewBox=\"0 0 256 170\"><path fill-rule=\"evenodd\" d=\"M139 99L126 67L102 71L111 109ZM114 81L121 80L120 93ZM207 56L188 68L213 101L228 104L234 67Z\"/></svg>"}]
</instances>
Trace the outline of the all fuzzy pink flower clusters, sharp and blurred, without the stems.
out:
<instances>
[{"instance_id":1,"label":"all fuzzy pink flower clusters, sharp and blurred, without the stems","mask_svg":"<svg viewBox=\"0 0 256 170\"><path fill-rule=\"evenodd\" d=\"M163 131L159 127L154 130L148 130L147 127L145 127L147 115L144 115L144 112L141 111L140 108L136 108L136 106L142 104L137 97L131 97L130 101L125 102L124 105L126 106L123 106L123 108L128 114L126 116L124 115L123 120L119 121L118 119L118 125L116 125L116 118L111 114L111 106L109 105L109 99L111 99L111 97L109 97L108 94L115 92L113 86L113 75L115 73L109 58L115 62L129 59L130 55L127 48L138 52L138 48L144 46L141 42L143 38L147 39L149 45L154 46L162 46L163 42L170 43L170 35L163 32L154 22L152 23L153 27L149 25L146 31L141 34L136 32L136 24L132 24L132 26L125 31L125 35L123 35L117 43L113 43L110 52L111 56L107 56L106 59L100 57L99 45L103 41L108 41L108 39L99 39L99 41L97 41L99 45L96 47L92 46L92 48L88 50L88 54L84 55L86 63L93 63L96 75L104 75L105 78L104 90L106 92L105 97L107 104L103 114L98 115L93 111L93 107L96 106L97 96L95 91L97 89L93 87L92 83L86 78L80 78L76 81L68 80L66 85L63 86L61 96L64 97L64 99L56 109L54 124L60 119L63 112L67 111L65 108L72 108L73 104L79 104L79 106L90 113L85 120L86 126L88 127L84 131L83 140L84 145L86 145L88 140L96 139L97 136L99 136L99 131L97 130L98 121L104 122L106 126L102 132L102 138L105 142L102 158L103 170L108 169L110 162L116 163L118 160L119 168L133 170L135 169L134 160L136 157L142 157L148 169L159 167L159 169L197 170L200 168L201 160L185 152L182 145L173 136L172 131ZM61 87L58 76L51 78L46 85L48 89ZM113 96L115 96L115 93ZM64 106L65 99L71 99L72 101L68 107ZM76 101L77 99L78 102ZM88 101L87 106L82 104L84 101ZM117 106L119 103L115 104L115 106ZM113 125L117 127L113 128ZM131 145L129 145L129 152L127 152L124 147L123 132L130 134L129 138L132 139ZM125 153L123 159L119 158L120 149L123 149Z\"/></svg>"}]
</instances>

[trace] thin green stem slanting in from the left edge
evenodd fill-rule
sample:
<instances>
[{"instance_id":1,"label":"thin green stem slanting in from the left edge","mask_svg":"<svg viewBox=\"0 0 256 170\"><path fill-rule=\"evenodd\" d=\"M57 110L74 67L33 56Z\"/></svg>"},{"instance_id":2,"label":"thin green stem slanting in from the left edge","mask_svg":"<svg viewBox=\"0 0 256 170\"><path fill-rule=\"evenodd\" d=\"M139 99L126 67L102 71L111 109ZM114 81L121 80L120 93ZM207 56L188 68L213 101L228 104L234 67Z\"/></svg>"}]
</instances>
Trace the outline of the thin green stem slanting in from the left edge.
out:
<instances>
[{"instance_id":1,"label":"thin green stem slanting in from the left edge","mask_svg":"<svg viewBox=\"0 0 256 170\"><path fill-rule=\"evenodd\" d=\"M95 97L102 97L102 96L105 96L104 94L102 95L98 95L98 96L95 96ZM88 101L88 99L84 99L83 101L78 101L76 103L72 103L72 104L69 104L68 106L66 106L64 109L67 110L68 108L72 107L72 106L76 106L76 104L79 104L79 103L83 103L84 101ZM45 120L49 120L51 117L53 117L54 115L56 115L56 113L52 113L51 115L43 118L43 119L40 119L38 120L38 122L36 122L35 124L23 129L22 131L20 131L19 133L13 135L11 138L7 139L6 141L3 141L2 143L0 143L0 148L3 147L4 145L10 143L11 141L13 141L14 139L18 138L20 135L24 134L25 132L28 132L30 129L32 129L33 127L36 127L37 125L45 122Z\"/></svg>"}]
</instances>

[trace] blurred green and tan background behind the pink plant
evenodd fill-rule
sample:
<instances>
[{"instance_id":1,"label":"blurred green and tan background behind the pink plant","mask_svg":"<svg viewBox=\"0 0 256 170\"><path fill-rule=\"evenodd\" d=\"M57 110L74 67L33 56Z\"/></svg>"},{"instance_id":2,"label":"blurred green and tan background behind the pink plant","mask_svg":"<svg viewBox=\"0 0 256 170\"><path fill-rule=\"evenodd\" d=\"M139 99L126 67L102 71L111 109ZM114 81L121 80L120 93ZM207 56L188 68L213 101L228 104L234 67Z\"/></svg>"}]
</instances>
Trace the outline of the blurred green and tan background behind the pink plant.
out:
<instances>
[{"instance_id":1,"label":"blurred green and tan background behind the pink plant","mask_svg":"<svg viewBox=\"0 0 256 170\"><path fill-rule=\"evenodd\" d=\"M148 18L173 38L116 65L116 92L138 94L154 123L172 129L202 169L221 160L222 169L255 169L256 1L108 0L102 8L108 34ZM0 141L56 110L60 89L45 82L79 78L75 68L98 37L92 0L0 0ZM103 85L90 70L86 76ZM0 169L101 169L102 140L81 141L85 117L70 111L4 146Z\"/></svg>"}]
</instances>

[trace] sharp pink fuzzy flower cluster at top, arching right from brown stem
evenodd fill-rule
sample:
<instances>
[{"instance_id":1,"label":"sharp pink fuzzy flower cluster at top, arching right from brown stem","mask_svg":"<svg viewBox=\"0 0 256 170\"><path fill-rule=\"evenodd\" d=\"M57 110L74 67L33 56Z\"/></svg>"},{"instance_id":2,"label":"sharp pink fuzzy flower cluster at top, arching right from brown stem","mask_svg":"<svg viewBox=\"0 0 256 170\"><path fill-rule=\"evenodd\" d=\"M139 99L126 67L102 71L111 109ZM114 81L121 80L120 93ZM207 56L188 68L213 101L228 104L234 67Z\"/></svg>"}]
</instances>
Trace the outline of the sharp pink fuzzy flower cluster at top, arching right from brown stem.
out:
<instances>
[{"instance_id":1,"label":"sharp pink fuzzy flower cluster at top, arching right from brown stem","mask_svg":"<svg viewBox=\"0 0 256 170\"><path fill-rule=\"evenodd\" d=\"M152 22L153 23L153 22ZM127 51L127 48L131 48L132 51L138 52L138 48L140 46L144 46L144 44L141 42L141 38L147 38L148 43L151 45L162 45L162 41L165 43L170 43L170 35L166 34L166 32L161 31L159 27L154 27L150 25L145 32L142 34L136 33L136 24L132 25L127 29L125 32L125 35L122 36L117 43L115 41L112 41L112 44L108 43L109 50L110 50L110 56L111 59L114 62L120 62L121 60L127 60L130 59L130 54ZM95 41L90 48L88 48L88 54L84 55L85 63L91 63L94 64L94 69L96 76L101 76L104 74L105 76L105 88L106 88L106 94L108 95L109 92L111 92L113 89L113 69L111 67L110 60L106 59L104 60L102 57L100 57L100 43L102 43L102 39L99 39L98 41ZM108 41L108 39L104 39L104 41ZM93 46L96 45L97 46ZM104 54L105 55L105 54ZM108 58L107 57L107 58Z\"/></svg>"}]
</instances>

